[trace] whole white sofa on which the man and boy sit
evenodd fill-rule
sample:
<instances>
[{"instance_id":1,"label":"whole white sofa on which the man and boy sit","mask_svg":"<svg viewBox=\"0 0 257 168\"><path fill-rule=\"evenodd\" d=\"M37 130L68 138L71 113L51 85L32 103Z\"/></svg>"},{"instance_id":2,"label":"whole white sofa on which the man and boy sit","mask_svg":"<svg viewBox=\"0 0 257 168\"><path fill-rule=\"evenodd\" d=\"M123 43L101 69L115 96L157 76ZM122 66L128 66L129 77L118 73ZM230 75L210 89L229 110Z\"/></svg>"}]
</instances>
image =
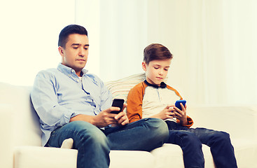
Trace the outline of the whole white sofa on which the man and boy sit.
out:
<instances>
[{"instance_id":1,"label":"whole white sofa on which the man and boy sit","mask_svg":"<svg viewBox=\"0 0 257 168\"><path fill-rule=\"evenodd\" d=\"M113 97L124 98L130 88L144 80L137 74L106 83ZM0 83L1 168L75 168L75 149L41 147L39 117L33 109L29 92L32 86ZM188 106L193 127L208 127L230 133L238 167L257 167L257 106ZM205 167L214 162L208 146L203 145ZM165 144L151 153L111 151L111 168L183 167L179 146Z\"/></svg>"}]
</instances>

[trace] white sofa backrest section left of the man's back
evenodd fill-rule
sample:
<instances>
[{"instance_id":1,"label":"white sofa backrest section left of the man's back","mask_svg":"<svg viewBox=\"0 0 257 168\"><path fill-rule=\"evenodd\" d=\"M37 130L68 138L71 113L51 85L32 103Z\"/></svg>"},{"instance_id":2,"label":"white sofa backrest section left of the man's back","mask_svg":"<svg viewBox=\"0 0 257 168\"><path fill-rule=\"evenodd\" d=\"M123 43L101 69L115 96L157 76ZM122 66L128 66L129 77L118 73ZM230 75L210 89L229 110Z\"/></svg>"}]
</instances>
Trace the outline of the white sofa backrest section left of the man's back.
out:
<instances>
[{"instance_id":1,"label":"white sofa backrest section left of the man's back","mask_svg":"<svg viewBox=\"0 0 257 168\"><path fill-rule=\"evenodd\" d=\"M0 83L0 104L9 104L13 113L10 115L13 123L14 146L41 146L41 130L39 117L34 111L30 99L32 87ZM6 125L8 129L8 125Z\"/></svg>"}]
</instances>

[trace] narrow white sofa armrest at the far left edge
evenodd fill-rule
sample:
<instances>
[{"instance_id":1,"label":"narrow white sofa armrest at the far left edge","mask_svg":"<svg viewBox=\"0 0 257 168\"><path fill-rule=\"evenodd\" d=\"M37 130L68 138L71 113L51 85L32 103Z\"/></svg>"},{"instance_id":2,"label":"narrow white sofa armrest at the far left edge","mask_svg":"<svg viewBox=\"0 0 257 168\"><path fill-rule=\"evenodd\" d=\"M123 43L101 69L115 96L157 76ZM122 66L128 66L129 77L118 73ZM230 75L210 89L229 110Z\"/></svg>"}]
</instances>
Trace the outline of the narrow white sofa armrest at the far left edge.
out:
<instances>
[{"instance_id":1,"label":"narrow white sofa armrest at the far left edge","mask_svg":"<svg viewBox=\"0 0 257 168\"><path fill-rule=\"evenodd\" d=\"M12 106L0 104L0 167L13 167L13 116Z\"/></svg>"}]
</instances>

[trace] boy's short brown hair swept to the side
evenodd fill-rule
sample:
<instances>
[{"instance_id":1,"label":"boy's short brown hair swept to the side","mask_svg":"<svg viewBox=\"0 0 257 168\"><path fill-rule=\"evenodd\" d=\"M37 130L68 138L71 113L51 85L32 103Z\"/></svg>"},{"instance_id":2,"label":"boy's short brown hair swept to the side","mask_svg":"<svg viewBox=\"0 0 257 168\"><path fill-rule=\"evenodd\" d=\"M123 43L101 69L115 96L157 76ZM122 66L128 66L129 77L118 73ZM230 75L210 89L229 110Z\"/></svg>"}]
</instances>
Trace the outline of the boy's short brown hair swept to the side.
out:
<instances>
[{"instance_id":1,"label":"boy's short brown hair swept to the side","mask_svg":"<svg viewBox=\"0 0 257 168\"><path fill-rule=\"evenodd\" d=\"M159 43L152 43L144 48L144 62L149 64L153 60L172 59L169 49Z\"/></svg>"}]
</instances>

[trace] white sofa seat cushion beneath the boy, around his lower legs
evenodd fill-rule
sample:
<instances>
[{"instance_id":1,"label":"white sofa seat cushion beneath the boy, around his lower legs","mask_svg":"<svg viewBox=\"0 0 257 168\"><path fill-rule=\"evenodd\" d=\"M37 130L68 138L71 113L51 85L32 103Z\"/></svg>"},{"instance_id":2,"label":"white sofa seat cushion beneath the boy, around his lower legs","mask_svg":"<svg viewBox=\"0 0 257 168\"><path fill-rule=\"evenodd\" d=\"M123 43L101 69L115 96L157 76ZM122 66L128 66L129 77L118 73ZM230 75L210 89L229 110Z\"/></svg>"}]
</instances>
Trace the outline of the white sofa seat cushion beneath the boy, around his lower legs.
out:
<instances>
[{"instance_id":1,"label":"white sofa seat cushion beneath the boy, around his lower legs","mask_svg":"<svg viewBox=\"0 0 257 168\"><path fill-rule=\"evenodd\" d=\"M253 139L233 139L232 145L235 149L235 157L237 159L237 166L241 168L257 167L257 143ZM205 167L215 168L214 161L211 155L209 146L202 145L202 152L204 153ZM181 167L183 168L183 153L179 146L174 144L164 144L160 148L151 151L155 157L155 167ZM174 162L176 160L176 162Z\"/></svg>"}]
</instances>

